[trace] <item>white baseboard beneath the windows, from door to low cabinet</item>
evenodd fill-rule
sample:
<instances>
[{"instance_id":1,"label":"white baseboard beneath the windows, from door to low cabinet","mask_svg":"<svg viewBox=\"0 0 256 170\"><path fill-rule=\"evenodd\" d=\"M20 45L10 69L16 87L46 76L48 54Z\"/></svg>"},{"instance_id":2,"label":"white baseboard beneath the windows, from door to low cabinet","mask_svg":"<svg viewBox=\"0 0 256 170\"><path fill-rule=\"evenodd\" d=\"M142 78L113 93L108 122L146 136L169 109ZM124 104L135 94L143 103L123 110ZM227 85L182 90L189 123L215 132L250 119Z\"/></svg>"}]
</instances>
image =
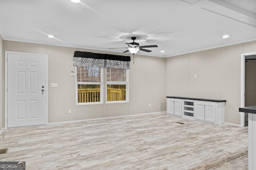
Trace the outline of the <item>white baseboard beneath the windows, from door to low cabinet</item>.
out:
<instances>
[{"instance_id":1,"label":"white baseboard beneath the windows, from door to low cabinet","mask_svg":"<svg viewBox=\"0 0 256 170\"><path fill-rule=\"evenodd\" d=\"M60 122L47 123L47 125L56 125L56 124L61 124L61 123L75 123L75 122L91 121L91 120L112 119L112 118L130 117L130 116L138 116L138 115L150 115L150 114L157 114L157 113L166 113L166 111L151 112L151 113L140 113L140 114L134 114L134 115L122 115L122 116L112 116L112 117L100 117L100 118L82 119L82 120L73 120L73 121L60 121Z\"/></svg>"}]
</instances>

